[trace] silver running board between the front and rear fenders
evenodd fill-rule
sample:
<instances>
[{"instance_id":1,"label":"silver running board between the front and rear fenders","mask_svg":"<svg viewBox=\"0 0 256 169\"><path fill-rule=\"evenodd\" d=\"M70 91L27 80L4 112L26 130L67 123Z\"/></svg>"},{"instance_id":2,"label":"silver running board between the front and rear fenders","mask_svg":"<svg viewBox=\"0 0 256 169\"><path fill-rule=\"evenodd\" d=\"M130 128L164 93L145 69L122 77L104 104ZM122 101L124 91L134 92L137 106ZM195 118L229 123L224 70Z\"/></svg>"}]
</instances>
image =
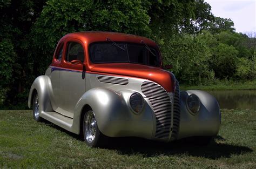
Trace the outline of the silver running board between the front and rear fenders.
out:
<instances>
[{"instance_id":1,"label":"silver running board between the front and rear fenders","mask_svg":"<svg viewBox=\"0 0 256 169\"><path fill-rule=\"evenodd\" d=\"M42 111L41 117L48 121L51 121L51 123L56 124L65 130L73 132L72 131L72 124L73 124L72 118L63 116L62 114L59 114L57 112L44 112L44 111Z\"/></svg>"}]
</instances>

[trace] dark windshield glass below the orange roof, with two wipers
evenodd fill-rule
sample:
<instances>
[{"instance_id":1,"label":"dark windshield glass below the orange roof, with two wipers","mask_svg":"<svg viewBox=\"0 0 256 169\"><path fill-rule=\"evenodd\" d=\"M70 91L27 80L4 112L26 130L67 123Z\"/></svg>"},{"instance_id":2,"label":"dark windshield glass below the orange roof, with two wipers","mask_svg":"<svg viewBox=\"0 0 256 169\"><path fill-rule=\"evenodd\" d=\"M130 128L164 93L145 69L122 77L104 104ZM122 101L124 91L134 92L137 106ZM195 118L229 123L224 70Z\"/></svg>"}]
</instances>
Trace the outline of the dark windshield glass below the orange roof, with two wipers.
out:
<instances>
[{"instance_id":1,"label":"dark windshield glass below the orange roof, with two wipers","mask_svg":"<svg viewBox=\"0 0 256 169\"><path fill-rule=\"evenodd\" d=\"M99 42L91 44L89 52L93 63L136 63L160 66L157 50L145 44Z\"/></svg>"}]
</instances>

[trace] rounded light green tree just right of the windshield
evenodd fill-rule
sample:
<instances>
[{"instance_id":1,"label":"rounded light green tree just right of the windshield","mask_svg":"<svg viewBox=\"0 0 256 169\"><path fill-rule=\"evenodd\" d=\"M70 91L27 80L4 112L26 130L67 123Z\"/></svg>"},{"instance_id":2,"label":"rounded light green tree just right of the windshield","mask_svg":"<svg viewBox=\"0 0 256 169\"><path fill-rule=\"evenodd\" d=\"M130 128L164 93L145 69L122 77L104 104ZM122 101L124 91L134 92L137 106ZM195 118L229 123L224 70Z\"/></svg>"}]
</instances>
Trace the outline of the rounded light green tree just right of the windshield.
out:
<instances>
[{"instance_id":1,"label":"rounded light green tree just right of the windshield","mask_svg":"<svg viewBox=\"0 0 256 169\"><path fill-rule=\"evenodd\" d=\"M177 36L170 39L162 53L164 63L173 65L172 71L181 83L204 84L214 78L207 64L210 51L200 38Z\"/></svg>"}]
</instances>

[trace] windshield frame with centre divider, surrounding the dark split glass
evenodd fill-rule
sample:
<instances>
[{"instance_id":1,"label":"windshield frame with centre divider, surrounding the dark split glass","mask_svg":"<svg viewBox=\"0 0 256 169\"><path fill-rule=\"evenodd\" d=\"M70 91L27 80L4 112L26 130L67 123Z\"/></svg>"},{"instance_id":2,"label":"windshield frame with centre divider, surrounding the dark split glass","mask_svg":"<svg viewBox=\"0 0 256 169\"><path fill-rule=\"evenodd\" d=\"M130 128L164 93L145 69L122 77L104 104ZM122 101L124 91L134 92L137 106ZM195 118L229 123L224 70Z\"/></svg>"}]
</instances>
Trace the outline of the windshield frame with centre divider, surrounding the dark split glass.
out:
<instances>
[{"instance_id":1,"label":"windshield frame with centre divider, surrounding the dark split glass","mask_svg":"<svg viewBox=\"0 0 256 169\"><path fill-rule=\"evenodd\" d=\"M140 65L147 65L147 66L153 66L153 67L160 67L161 66L161 57L160 57L160 52L159 52L159 49L152 46L152 45L149 45L147 44L147 46L150 48L151 51L154 51L155 55L154 57L156 57L156 62L158 64L144 64L144 63L139 63L139 62L131 62L131 57L129 56L129 48L128 46L131 46L131 45L137 45L137 46L141 46L142 48L144 48L146 51L148 51L147 49L147 46L145 46L144 43L131 43L131 42L116 42L113 40L114 43L118 44L118 45L125 45L125 51L123 52L126 52L127 54L127 60L125 62L93 62L93 59L92 59L92 56L91 56L91 48L93 45L95 44L110 44L110 45L113 45L113 46L116 46L114 45L111 41L99 41L99 42L93 42L89 45L89 48L88 48L88 51L89 51L89 59L90 59L90 62L93 63L93 64L111 64L111 63L130 63L130 64L140 64ZM118 46L116 46L116 48L119 48ZM119 48L120 49L120 48ZM120 49L121 50L121 49ZM150 52L150 51L148 51ZM151 54L152 55L152 54Z\"/></svg>"}]
</instances>

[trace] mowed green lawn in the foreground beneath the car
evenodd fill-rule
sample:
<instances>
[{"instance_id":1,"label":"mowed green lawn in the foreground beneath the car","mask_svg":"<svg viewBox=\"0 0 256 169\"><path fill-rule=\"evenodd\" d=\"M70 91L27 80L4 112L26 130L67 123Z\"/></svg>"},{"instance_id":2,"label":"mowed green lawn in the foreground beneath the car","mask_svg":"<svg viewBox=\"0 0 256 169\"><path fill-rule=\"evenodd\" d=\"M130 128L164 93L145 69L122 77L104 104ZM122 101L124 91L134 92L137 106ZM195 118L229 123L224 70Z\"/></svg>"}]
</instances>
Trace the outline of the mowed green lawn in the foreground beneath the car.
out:
<instances>
[{"instance_id":1,"label":"mowed green lawn in the foreground beneath the car","mask_svg":"<svg viewBox=\"0 0 256 169\"><path fill-rule=\"evenodd\" d=\"M90 148L76 135L31 110L0 111L0 168L256 168L256 110L222 110L221 129L208 146L118 138Z\"/></svg>"}]
</instances>

